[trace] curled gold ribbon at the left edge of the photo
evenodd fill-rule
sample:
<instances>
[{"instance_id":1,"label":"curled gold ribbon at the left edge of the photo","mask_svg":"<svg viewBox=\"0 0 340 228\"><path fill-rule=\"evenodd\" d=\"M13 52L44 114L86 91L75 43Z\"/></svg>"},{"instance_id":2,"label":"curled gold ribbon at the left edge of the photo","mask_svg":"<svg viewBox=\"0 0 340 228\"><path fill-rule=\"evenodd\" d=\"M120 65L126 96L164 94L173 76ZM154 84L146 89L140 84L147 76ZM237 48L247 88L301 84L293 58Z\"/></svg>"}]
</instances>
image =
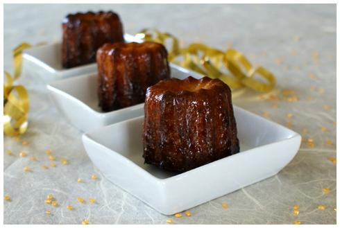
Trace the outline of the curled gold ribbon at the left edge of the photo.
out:
<instances>
[{"instance_id":1,"label":"curled gold ribbon at the left edge of the photo","mask_svg":"<svg viewBox=\"0 0 340 228\"><path fill-rule=\"evenodd\" d=\"M13 137L27 130L29 100L24 86L13 85L22 73L22 51L31 44L22 43L13 50L14 76L5 71L6 82L3 85L3 133Z\"/></svg>"}]
</instances>

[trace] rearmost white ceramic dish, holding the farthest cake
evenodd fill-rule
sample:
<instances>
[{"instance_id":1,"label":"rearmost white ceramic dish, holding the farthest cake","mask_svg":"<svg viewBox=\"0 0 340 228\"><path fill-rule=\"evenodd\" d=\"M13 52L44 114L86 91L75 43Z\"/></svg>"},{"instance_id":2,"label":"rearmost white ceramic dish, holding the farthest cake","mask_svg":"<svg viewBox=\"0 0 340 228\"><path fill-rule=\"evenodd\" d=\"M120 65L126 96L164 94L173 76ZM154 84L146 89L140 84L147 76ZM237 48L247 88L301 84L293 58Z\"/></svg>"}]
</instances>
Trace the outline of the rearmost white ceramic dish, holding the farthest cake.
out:
<instances>
[{"instance_id":1,"label":"rearmost white ceramic dish, holding the farthest cake","mask_svg":"<svg viewBox=\"0 0 340 228\"><path fill-rule=\"evenodd\" d=\"M133 35L124 35L126 42L142 42ZM35 46L31 49L24 50L24 67L34 73L39 73L46 80L56 80L68 78L71 76L80 76L85 73L96 71L96 63L86 64L80 67L70 69L62 68L61 43L46 44Z\"/></svg>"}]
</instances>

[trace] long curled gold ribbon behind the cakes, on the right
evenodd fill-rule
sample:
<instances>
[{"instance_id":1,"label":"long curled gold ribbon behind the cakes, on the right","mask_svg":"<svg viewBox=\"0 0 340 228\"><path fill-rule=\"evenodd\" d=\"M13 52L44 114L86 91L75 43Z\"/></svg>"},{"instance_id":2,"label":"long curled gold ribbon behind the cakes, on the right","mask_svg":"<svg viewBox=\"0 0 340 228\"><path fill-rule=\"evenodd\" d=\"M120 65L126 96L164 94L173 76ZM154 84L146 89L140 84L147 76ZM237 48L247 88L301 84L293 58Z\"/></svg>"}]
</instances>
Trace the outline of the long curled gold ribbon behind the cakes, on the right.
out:
<instances>
[{"instance_id":1,"label":"long curled gold ribbon behind the cakes, on the right","mask_svg":"<svg viewBox=\"0 0 340 228\"><path fill-rule=\"evenodd\" d=\"M205 44L189 44L180 49L178 39L170 33L160 33L159 30L144 29L135 37L159 42L168 46L169 61L175 64L201 73L210 78L219 78L231 89L247 87L255 91L271 91L275 87L276 80L273 73L264 67L253 67L249 60L239 51L228 49L221 51ZM229 73L226 73L228 70ZM255 76L260 76L259 79Z\"/></svg>"}]
</instances>

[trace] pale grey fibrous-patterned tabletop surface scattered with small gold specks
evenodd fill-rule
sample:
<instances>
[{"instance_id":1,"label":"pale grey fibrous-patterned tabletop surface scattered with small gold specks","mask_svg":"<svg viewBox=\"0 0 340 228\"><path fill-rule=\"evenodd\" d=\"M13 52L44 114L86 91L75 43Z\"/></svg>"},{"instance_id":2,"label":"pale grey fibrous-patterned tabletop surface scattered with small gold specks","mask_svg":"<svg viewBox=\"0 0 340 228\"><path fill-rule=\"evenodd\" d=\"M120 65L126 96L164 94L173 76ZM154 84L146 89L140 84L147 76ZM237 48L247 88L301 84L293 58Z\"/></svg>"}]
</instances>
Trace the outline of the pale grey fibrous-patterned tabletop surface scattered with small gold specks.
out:
<instances>
[{"instance_id":1,"label":"pale grey fibrous-patterned tabletop surface scattered with small gold specks","mask_svg":"<svg viewBox=\"0 0 340 228\"><path fill-rule=\"evenodd\" d=\"M46 82L24 71L18 83L27 87L31 99L29 128L19 139L4 138L4 150L13 153L3 157L3 191L11 198L3 203L5 224L79 224L84 219L90 224L165 224L168 218L176 224L337 222L336 164L329 160L336 157L335 4L5 5L4 68L12 70L11 50L17 44L60 40L60 22L67 13L100 9L118 12L126 33L159 28L180 37L182 44L205 42L220 49L231 45L254 64L267 67L278 79L273 96L239 92L233 98L235 105L289 125L304 140L313 139L314 146L303 141L296 157L278 175L190 209L191 217L163 216L101 176L85 153L82 133L49 100ZM292 89L298 100L282 99L282 89ZM291 119L289 113L294 114ZM42 168L51 162L46 149L56 157L55 168ZM28 156L19 157L22 151ZM31 161L31 156L37 161ZM69 164L62 165L61 157ZM25 173L24 166L31 172ZM99 178L92 180L92 174ZM79 177L82 183L77 182ZM323 193L323 188L330 192ZM44 203L49 193L58 207ZM78 196L86 202L77 202ZM89 198L96 204L90 204ZM223 202L228 209L221 207ZM66 208L68 204L73 211ZM298 216L294 204L300 206ZM318 210L321 204L324 211Z\"/></svg>"}]
</instances>

